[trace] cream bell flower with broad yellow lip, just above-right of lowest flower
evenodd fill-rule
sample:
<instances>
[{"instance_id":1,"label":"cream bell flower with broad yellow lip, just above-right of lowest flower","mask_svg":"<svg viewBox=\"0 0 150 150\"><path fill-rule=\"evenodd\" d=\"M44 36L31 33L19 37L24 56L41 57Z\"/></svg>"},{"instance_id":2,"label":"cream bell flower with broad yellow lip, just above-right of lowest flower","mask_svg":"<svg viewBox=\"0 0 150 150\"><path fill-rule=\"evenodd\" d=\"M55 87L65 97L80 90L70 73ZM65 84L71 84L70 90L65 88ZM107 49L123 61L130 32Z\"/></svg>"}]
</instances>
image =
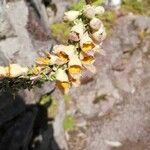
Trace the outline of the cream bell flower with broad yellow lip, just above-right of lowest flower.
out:
<instances>
[{"instance_id":1,"label":"cream bell flower with broad yellow lip, just above-right of lowest flower","mask_svg":"<svg viewBox=\"0 0 150 150\"><path fill-rule=\"evenodd\" d=\"M70 74L81 73L82 63L77 55L72 55L72 58L70 59L70 61L68 63L68 66L69 66L68 71Z\"/></svg>"}]
</instances>

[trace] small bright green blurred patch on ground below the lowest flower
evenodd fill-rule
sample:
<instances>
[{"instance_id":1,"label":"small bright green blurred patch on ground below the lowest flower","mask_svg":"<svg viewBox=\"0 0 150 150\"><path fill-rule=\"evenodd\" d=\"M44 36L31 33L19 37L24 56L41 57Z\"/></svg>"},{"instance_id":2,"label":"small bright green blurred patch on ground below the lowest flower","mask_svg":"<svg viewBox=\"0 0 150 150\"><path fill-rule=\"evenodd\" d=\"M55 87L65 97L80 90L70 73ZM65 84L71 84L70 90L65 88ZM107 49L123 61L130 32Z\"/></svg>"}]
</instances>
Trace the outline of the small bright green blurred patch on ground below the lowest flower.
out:
<instances>
[{"instance_id":1,"label":"small bright green blurred patch on ground below the lowest flower","mask_svg":"<svg viewBox=\"0 0 150 150\"><path fill-rule=\"evenodd\" d=\"M65 131L74 130L75 118L72 115L66 115L63 126L64 126Z\"/></svg>"}]
</instances>

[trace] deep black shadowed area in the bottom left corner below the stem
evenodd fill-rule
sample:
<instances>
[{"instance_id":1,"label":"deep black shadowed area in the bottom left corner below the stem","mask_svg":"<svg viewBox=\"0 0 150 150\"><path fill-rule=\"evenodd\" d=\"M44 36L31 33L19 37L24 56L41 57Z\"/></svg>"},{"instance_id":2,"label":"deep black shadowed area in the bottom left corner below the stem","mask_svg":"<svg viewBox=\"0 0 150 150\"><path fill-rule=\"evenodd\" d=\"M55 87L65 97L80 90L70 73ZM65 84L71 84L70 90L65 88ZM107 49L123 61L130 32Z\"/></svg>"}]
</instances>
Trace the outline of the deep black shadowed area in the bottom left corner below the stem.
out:
<instances>
[{"instance_id":1,"label":"deep black shadowed area in the bottom left corner below the stem","mask_svg":"<svg viewBox=\"0 0 150 150\"><path fill-rule=\"evenodd\" d=\"M60 150L47 114L50 105L27 105L18 95L1 93L0 150Z\"/></svg>"}]
</instances>

